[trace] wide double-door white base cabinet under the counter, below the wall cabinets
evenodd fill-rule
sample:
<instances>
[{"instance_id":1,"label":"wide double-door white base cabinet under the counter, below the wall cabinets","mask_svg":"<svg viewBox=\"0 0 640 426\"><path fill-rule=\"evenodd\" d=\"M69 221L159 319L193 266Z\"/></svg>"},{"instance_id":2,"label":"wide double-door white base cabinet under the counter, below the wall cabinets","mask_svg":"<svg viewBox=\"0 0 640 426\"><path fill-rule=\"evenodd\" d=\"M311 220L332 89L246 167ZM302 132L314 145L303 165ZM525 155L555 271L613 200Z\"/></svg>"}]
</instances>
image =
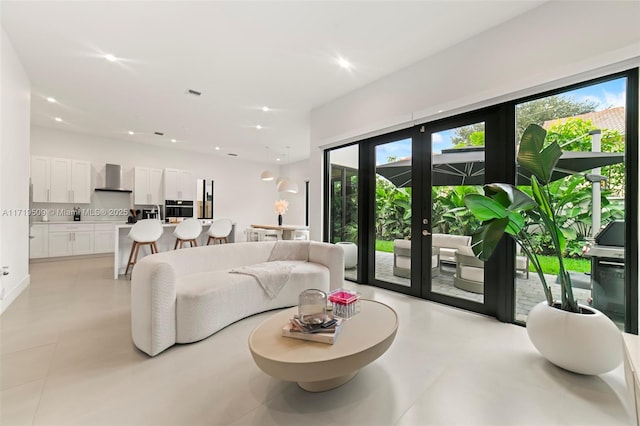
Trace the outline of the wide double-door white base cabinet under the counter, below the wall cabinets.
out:
<instances>
[{"instance_id":1,"label":"wide double-door white base cabinet under the counter, below the wall cabinets","mask_svg":"<svg viewBox=\"0 0 640 426\"><path fill-rule=\"evenodd\" d=\"M93 224L49 225L49 257L93 253Z\"/></svg>"}]
</instances>

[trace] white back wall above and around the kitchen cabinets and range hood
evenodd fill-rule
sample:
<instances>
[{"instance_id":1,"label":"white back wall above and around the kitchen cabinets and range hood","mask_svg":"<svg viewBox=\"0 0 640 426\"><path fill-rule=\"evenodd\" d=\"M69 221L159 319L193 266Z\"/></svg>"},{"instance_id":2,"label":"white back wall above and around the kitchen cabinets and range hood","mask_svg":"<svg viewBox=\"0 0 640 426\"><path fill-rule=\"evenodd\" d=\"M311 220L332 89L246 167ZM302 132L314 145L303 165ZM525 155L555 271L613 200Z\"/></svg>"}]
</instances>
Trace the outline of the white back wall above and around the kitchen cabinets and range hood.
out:
<instances>
[{"instance_id":1,"label":"white back wall above and around the kitchen cabinets and range hood","mask_svg":"<svg viewBox=\"0 0 640 426\"><path fill-rule=\"evenodd\" d=\"M237 223L236 241L245 239L242 231L251 223L276 223L273 205L279 194L273 182L260 180L266 164L36 126L31 131L31 154L91 161L92 188L104 186L106 163L122 166L122 186L131 189L135 166L185 169L193 171L195 178L213 179L214 217L228 217ZM278 167L269 168L279 173ZM129 208L129 205L129 195L93 192L91 206L83 207Z\"/></svg>"}]
</instances>

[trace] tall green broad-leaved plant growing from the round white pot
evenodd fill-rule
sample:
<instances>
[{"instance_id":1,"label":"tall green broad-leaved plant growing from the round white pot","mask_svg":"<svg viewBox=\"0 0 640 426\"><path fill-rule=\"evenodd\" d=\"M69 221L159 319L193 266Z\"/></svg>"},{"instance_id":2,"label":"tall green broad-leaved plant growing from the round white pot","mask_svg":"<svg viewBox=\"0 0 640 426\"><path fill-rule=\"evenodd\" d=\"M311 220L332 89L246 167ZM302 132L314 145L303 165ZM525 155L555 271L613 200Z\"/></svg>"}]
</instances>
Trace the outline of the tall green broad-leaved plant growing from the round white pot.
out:
<instances>
[{"instance_id":1,"label":"tall green broad-leaved plant growing from the round white pot","mask_svg":"<svg viewBox=\"0 0 640 426\"><path fill-rule=\"evenodd\" d=\"M531 173L531 195L513 185L494 183L484 186L485 195L469 194L465 204L482 222L472 236L473 252L481 260L488 260L502 236L507 233L522 247L531 261L543 286L549 306L554 300L542 266L527 232L537 225L551 240L553 254L558 259L558 280L561 291L561 309L579 312L573 296L571 276L564 266L565 235L558 226L556 208L549 190L551 175L562 155L560 145L554 141L544 145L547 132L537 124L529 125L520 140L518 164Z\"/></svg>"}]
</instances>

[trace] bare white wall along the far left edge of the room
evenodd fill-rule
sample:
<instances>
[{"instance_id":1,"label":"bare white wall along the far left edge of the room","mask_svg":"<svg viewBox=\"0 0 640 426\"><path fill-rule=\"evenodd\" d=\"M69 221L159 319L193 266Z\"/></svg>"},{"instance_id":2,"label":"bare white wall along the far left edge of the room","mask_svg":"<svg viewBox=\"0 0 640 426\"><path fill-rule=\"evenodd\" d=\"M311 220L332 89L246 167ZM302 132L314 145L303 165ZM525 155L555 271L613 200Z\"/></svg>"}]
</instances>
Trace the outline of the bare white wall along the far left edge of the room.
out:
<instances>
[{"instance_id":1,"label":"bare white wall along the far left edge of the room","mask_svg":"<svg viewBox=\"0 0 640 426\"><path fill-rule=\"evenodd\" d=\"M1 311L29 285L29 124L31 83L0 29L0 279Z\"/></svg>"}]
</instances>

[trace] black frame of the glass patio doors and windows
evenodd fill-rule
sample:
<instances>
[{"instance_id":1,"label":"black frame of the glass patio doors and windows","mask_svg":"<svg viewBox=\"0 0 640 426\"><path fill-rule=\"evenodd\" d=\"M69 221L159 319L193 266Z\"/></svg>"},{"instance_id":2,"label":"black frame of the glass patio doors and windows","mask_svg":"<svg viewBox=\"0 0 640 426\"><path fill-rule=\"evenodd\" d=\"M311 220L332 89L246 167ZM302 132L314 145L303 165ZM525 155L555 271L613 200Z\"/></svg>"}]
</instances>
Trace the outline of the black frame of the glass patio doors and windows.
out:
<instances>
[{"instance_id":1,"label":"black frame of the glass patio doors and windows","mask_svg":"<svg viewBox=\"0 0 640 426\"><path fill-rule=\"evenodd\" d=\"M422 162L419 167L412 168L412 179L414 182L422 182L424 176L421 174L423 170L430 170L430 164L425 166L424 162L425 158L425 147L427 146L424 143L424 140L421 140L420 129L424 126L425 131L427 128L433 129L438 126L439 123L454 123L455 120L466 117L473 116L474 114L478 114L479 112L486 110L495 110L497 114L497 122L498 122L498 130L497 130L497 139L496 142L492 142L492 146L495 146L494 154L488 156L486 158L486 182L507 182L511 184L515 184L515 134L516 134L516 117L515 117L515 109L516 105L522 102L527 102L530 100L544 98L546 96L551 96L555 94L560 94L566 91L571 91L580 87L590 86L593 84L601 83L608 80L613 80L617 78L627 78L627 103L625 107L626 112L626 144L625 144L625 171L626 171L626 187L625 187L625 222L626 222L626 259L625 262L625 302L626 302L626 316L625 316L625 331L633 334L638 334L638 262L635 260L638 259L638 121L639 121L639 105L638 105L638 96L639 96L639 71L638 68L632 68L625 71L617 72L614 74L602 76L596 79L591 79L587 81L583 81L580 83L563 86L557 89L549 90L546 92L536 93L534 95L529 95L526 97L522 97L519 99L515 99L512 101L504 102L495 106L491 106L488 108L484 108L482 110L475 110L466 114L461 114L454 117L447 117L445 119L436 120L429 123L422 123L411 128L407 128L404 130L399 130L396 132L392 132L389 134L377 136L375 138L353 142L351 144L359 144L362 148L366 146L368 143L372 143L371 141L380 140L380 141L392 141L398 140L398 135L408 134L413 138L412 144L412 157L414 161ZM425 136L423 135L422 138ZM383 142L379 142L383 143ZM421 143L421 147L418 144ZM487 141L487 143L489 143ZM346 145L345 145L346 146ZM489 149L489 148L487 148ZM431 150L430 141L429 141L429 151ZM366 151L366 152L363 152ZM434 296L432 292L430 292L430 268L427 268L428 271L422 273L423 265L421 262L422 253L424 251L424 244L420 244L417 250L412 247L412 283L420 282L419 288L416 290L415 285L412 284L412 287L402 287L397 285L387 285L384 282L375 281L375 279L371 279L370 277L375 276L372 275L372 271L370 270L374 262L372 262L372 256L375 256L375 251L373 253L371 250L363 250L362 248L368 248L369 242L371 239L375 241L375 229L373 228L373 209L371 203L374 203L375 198L371 197L371 189L375 190L375 164L372 156L372 149L360 149L359 161L360 161L360 170L359 170L359 182L360 188L358 193L358 204L359 214L358 214L358 235L360 240L360 250L358 250L358 282L364 284L374 284L382 288L388 288L390 290L398 291L405 294L411 294L417 297L428 298L430 300L434 300L441 303L450 304L450 301L446 297ZM326 180L329 181L329 150L325 151L325 170ZM325 211L325 220L324 220L324 240L328 241L328 226L329 226L329 211L330 206L326 202L329 200L328 197L328 185L325 184L325 203L324 203L324 211ZM426 195L425 195L426 194ZM419 220L413 220L413 216L415 212L420 212L422 215L425 214L424 209L425 205L431 205L431 191L412 191L412 235L421 235L421 231L423 229L422 224ZM425 217L425 216L423 216ZM429 212L429 222L430 220L430 212ZM429 225L430 228L430 225ZM430 232L430 230L429 230ZM429 239L430 240L430 239ZM429 241L430 242L430 241ZM414 255L415 251L415 255ZM367 252L367 253L365 253ZM497 285L489 286L485 288L485 303L486 310L484 313L487 315L495 316L500 321L504 322L514 322L515 315L515 268L508 267L509 265L514 265L514 253L515 253L515 245L514 242L510 238L504 238L492 259L489 263L485 264L485 269L491 269L491 279L495 279ZM430 260L429 260L430 262ZM370 267L371 265L371 267ZM414 276L417 274L417 276ZM367 281L367 277L369 280ZM425 277L429 277L429 281L426 281ZM485 282L486 282L486 271L485 271ZM416 281L416 279L418 281ZM427 287L427 288L425 288ZM459 299L458 299L459 300ZM473 303L473 302L470 302ZM465 305L462 303L461 305ZM477 304L475 304L477 305ZM465 306L460 306L463 309L467 309ZM476 310L477 306L470 305L470 310Z\"/></svg>"}]
</instances>

